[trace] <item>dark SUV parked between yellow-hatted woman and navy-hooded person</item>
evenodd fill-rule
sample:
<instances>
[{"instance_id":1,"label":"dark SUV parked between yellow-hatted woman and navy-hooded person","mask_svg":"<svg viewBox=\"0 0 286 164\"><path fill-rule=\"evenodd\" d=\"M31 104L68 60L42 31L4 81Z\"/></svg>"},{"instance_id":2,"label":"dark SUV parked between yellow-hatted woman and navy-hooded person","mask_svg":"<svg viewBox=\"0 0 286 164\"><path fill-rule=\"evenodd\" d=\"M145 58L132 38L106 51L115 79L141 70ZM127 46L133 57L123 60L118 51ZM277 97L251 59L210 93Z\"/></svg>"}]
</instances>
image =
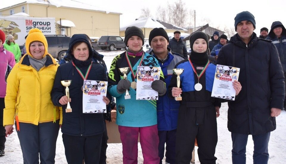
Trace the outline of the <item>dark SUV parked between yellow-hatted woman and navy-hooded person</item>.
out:
<instances>
[{"instance_id":1,"label":"dark SUV parked between yellow-hatted woman and navy-hooded person","mask_svg":"<svg viewBox=\"0 0 286 164\"><path fill-rule=\"evenodd\" d=\"M48 42L48 53L61 60L69 49L71 37L66 35L45 35Z\"/></svg>"}]
</instances>

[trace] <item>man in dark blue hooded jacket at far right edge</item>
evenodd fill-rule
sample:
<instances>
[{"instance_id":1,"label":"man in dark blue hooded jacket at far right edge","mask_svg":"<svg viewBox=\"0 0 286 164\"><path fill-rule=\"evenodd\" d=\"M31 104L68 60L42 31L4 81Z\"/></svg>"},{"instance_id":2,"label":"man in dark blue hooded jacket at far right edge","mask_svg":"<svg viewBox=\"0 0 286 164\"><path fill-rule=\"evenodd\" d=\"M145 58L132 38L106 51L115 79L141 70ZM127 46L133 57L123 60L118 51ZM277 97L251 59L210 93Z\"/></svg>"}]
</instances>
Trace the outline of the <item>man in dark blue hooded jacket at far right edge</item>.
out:
<instances>
[{"instance_id":1,"label":"man in dark blue hooded jacket at far right edge","mask_svg":"<svg viewBox=\"0 0 286 164\"><path fill-rule=\"evenodd\" d=\"M271 40L272 43L276 46L279 53L279 58L283 68L284 76L286 76L286 29L280 21L275 21L272 23L270 32L266 39ZM286 85L286 80L284 82ZM284 110L285 109L286 99L284 100Z\"/></svg>"}]
</instances>

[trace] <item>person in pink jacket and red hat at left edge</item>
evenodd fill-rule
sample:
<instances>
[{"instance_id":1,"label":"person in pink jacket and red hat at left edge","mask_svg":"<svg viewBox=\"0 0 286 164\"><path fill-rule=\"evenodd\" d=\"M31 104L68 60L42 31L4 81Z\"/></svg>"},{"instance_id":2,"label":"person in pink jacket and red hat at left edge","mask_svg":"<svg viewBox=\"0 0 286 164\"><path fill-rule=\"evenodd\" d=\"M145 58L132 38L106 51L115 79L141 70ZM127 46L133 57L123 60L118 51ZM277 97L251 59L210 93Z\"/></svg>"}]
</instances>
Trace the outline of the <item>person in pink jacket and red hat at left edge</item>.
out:
<instances>
[{"instance_id":1,"label":"person in pink jacket and red hat at left edge","mask_svg":"<svg viewBox=\"0 0 286 164\"><path fill-rule=\"evenodd\" d=\"M0 157L5 155L6 130L3 126L3 110L5 108L6 81L15 65L14 55L4 49L3 43L5 43L5 33L0 30Z\"/></svg>"}]
</instances>

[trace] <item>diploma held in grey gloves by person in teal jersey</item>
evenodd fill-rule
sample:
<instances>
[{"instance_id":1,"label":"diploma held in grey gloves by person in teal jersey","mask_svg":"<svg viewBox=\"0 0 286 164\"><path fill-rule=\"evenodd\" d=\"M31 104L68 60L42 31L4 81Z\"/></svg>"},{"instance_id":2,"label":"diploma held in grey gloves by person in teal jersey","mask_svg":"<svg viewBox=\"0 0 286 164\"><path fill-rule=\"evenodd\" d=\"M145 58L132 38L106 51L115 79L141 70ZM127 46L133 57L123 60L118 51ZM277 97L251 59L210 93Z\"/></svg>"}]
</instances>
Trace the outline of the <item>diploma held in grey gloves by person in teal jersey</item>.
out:
<instances>
[{"instance_id":1,"label":"diploma held in grey gloves by person in teal jersey","mask_svg":"<svg viewBox=\"0 0 286 164\"><path fill-rule=\"evenodd\" d=\"M161 67L137 67L136 100L158 100L158 92L153 90L151 84L160 79Z\"/></svg>"}]
</instances>

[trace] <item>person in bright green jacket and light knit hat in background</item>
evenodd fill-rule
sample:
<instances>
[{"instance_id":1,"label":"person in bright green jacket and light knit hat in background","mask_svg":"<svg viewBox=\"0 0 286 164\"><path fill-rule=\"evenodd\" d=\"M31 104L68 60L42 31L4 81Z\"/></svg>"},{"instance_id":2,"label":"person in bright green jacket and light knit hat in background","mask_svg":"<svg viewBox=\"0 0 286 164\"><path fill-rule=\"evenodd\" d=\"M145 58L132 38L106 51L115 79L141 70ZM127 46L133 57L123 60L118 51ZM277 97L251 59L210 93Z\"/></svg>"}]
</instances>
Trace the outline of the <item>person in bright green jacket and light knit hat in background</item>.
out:
<instances>
[{"instance_id":1,"label":"person in bright green jacket and light knit hat in background","mask_svg":"<svg viewBox=\"0 0 286 164\"><path fill-rule=\"evenodd\" d=\"M10 51L14 54L15 61L18 63L21 57L21 51L19 45L15 43L13 35L7 35L6 42L3 44L3 46L7 51Z\"/></svg>"}]
</instances>

